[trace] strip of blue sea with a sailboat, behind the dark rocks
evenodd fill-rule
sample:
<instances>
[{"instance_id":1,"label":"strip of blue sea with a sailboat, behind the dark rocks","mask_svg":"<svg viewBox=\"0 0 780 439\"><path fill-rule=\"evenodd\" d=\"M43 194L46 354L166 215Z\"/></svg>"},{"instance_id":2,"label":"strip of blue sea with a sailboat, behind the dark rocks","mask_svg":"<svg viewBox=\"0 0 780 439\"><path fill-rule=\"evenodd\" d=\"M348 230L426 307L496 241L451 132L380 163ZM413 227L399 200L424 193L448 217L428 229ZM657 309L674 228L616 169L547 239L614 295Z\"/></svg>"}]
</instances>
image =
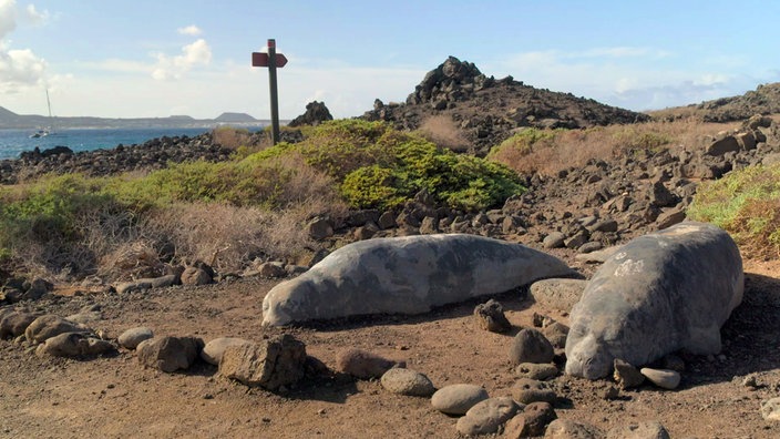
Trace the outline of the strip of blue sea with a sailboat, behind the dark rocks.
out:
<instances>
[{"instance_id":1,"label":"strip of blue sea with a sailboat, behind the dark rocks","mask_svg":"<svg viewBox=\"0 0 780 439\"><path fill-rule=\"evenodd\" d=\"M249 131L263 126L248 127ZM41 151L54 146L68 146L73 152L111 150L122 144L125 146L142 144L162 136L196 136L212 131L208 127L133 127L133 129L63 129L55 130L44 137L32 139L35 130L0 130L0 160L19 159L24 151Z\"/></svg>"}]
</instances>

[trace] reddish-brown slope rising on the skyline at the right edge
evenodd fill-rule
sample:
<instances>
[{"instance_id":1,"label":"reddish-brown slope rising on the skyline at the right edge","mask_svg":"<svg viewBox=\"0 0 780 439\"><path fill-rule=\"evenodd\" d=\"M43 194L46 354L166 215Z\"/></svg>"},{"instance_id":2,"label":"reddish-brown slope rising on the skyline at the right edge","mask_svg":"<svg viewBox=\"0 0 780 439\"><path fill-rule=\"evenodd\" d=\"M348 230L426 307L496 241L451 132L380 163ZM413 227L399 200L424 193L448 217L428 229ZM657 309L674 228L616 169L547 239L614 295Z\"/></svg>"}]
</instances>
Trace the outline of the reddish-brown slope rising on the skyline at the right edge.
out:
<instances>
[{"instance_id":1,"label":"reddish-brown slope rising on the skyline at the right edge","mask_svg":"<svg viewBox=\"0 0 780 439\"><path fill-rule=\"evenodd\" d=\"M702 122L743 121L753 114L780 113L780 82L759 85L745 94L649 112L654 118L695 118Z\"/></svg>"}]
</instances>

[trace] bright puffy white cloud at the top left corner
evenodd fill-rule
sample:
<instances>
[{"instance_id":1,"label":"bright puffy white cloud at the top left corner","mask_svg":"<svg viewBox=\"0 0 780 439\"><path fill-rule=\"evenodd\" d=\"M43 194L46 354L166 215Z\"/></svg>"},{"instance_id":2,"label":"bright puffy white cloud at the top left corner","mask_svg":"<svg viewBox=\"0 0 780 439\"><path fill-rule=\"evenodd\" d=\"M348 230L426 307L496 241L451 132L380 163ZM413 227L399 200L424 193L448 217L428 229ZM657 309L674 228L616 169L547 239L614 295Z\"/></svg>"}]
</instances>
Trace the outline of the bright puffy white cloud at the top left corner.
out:
<instances>
[{"instance_id":1,"label":"bright puffy white cloud at the top left corner","mask_svg":"<svg viewBox=\"0 0 780 439\"><path fill-rule=\"evenodd\" d=\"M28 8L28 13L30 10ZM35 11L34 7L32 11ZM16 28L17 2L0 0L0 92L3 94L18 93L27 88L40 85L47 70L47 62L32 50L10 49L10 42L6 39Z\"/></svg>"}]
</instances>

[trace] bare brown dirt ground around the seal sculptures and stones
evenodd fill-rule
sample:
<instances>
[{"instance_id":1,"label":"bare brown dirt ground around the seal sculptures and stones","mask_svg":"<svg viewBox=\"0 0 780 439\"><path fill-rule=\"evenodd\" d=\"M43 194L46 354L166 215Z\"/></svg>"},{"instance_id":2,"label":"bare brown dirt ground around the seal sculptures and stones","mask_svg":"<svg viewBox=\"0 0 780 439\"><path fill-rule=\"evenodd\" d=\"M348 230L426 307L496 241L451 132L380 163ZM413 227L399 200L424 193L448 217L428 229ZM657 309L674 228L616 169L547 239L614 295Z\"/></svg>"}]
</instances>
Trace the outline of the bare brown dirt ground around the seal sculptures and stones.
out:
<instances>
[{"instance_id":1,"label":"bare brown dirt ground around the seal sculptures and stones","mask_svg":"<svg viewBox=\"0 0 780 439\"><path fill-rule=\"evenodd\" d=\"M747 293L722 329L722 356L689 358L677 390L644 386L605 399L610 380L556 378L556 412L615 426L658 420L673 438L777 438L780 423L766 421L762 400L780 392L780 263L749 262ZM54 297L34 304L66 316L100 304L94 324L107 337L148 326L157 335L196 335L208 341L235 336L260 340L283 329L260 326L261 300L275 285L245 279L196 288L173 287L131 294ZM335 367L348 347L406 359L437 387L456 382L484 386L509 396L515 381L507 360L511 336L532 325L542 309L524 292L499 296L515 330L497 335L478 329L478 302L413 316L381 316L285 329L307 351ZM769 299L774 298L774 305ZM742 380L755 375L758 388ZM427 398L401 397L380 384L333 375L306 380L284 395L249 389L198 363L179 374L141 367L133 351L91 360L41 358L23 344L0 341L0 437L261 437L261 438L455 438L455 418L431 408Z\"/></svg>"}]
</instances>

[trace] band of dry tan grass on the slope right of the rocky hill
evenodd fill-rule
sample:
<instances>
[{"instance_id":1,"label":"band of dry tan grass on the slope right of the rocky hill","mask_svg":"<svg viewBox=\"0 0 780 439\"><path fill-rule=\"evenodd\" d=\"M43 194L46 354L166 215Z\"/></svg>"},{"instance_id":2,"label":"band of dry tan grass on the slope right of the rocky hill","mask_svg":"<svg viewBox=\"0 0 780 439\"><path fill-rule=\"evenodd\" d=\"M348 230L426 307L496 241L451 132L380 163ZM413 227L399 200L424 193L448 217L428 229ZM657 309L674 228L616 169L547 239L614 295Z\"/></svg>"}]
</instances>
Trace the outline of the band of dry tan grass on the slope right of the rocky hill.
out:
<instances>
[{"instance_id":1,"label":"band of dry tan grass on the slope right of the rocky hill","mask_svg":"<svg viewBox=\"0 0 780 439\"><path fill-rule=\"evenodd\" d=\"M496 147L490 159L519 173L555 175L562 170L585 166L592 159L644 156L661 149L673 152L701 149L718 132L738 126L739 123L702 123L687 119L587 130L555 130L547 131L545 139L533 144Z\"/></svg>"}]
</instances>

